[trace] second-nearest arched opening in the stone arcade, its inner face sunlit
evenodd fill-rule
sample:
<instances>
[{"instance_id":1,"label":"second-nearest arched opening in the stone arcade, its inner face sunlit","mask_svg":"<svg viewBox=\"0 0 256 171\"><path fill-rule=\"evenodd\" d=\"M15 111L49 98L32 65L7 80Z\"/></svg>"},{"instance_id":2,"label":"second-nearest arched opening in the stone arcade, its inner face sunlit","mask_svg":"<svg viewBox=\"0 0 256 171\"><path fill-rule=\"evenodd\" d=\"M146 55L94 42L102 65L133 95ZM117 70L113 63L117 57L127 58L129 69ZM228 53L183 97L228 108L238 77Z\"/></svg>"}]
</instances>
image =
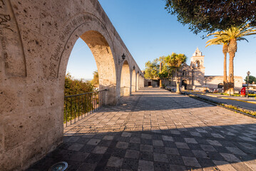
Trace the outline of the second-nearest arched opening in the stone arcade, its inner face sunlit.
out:
<instances>
[{"instance_id":1,"label":"second-nearest arched opening in the stone arcade, its inner face sunlit","mask_svg":"<svg viewBox=\"0 0 256 171\"><path fill-rule=\"evenodd\" d=\"M130 67L128 61L125 61L122 66L120 95L130 95Z\"/></svg>"}]
</instances>

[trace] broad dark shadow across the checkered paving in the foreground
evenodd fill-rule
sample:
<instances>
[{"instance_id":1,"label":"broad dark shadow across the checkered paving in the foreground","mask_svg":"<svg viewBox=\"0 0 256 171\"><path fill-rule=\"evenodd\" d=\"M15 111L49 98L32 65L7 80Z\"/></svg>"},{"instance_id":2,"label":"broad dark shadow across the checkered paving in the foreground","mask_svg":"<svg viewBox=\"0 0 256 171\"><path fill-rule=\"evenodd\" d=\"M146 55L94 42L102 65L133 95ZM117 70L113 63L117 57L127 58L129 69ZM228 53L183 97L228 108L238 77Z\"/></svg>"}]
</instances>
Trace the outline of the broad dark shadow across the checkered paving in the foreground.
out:
<instances>
[{"instance_id":1,"label":"broad dark shadow across the checkered paving in the foreground","mask_svg":"<svg viewBox=\"0 0 256 171\"><path fill-rule=\"evenodd\" d=\"M73 128L75 134L29 170L61 161L68 170L256 169L255 124L83 133L86 126Z\"/></svg>"}]
</instances>

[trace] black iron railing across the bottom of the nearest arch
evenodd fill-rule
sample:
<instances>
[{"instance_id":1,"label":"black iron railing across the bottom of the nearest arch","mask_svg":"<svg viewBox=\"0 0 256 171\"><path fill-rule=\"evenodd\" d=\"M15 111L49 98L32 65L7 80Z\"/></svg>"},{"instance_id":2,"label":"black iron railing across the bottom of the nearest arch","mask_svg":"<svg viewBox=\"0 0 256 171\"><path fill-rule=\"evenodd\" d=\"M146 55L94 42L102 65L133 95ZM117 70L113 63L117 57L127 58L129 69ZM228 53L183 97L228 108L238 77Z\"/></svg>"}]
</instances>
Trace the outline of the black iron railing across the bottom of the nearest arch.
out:
<instances>
[{"instance_id":1,"label":"black iron railing across the bottom of the nearest arch","mask_svg":"<svg viewBox=\"0 0 256 171\"><path fill-rule=\"evenodd\" d=\"M105 105L106 90L64 97L64 126L90 115Z\"/></svg>"}]
</instances>

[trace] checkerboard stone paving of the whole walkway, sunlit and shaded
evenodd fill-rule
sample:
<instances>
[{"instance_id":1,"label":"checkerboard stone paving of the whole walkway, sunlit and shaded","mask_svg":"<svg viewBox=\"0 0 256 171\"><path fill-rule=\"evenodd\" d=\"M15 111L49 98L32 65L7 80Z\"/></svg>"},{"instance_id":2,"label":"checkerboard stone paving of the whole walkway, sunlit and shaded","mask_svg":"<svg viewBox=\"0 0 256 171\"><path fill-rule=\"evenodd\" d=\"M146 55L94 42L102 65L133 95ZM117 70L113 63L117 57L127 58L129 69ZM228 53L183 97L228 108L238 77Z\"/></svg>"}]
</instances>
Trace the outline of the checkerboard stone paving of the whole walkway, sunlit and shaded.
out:
<instances>
[{"instance_id":1,"label":"checkerboard stone paving of the whole walkway, sunlit and shaded","mask_svg":"<svg viewBox=\"0 0 256 171\"><path fill-rule=\"evenodd\" d=\"M185 95L143 88L64 129L29 170L256 170L256 120Z\"/></svg>"}]
</instances>

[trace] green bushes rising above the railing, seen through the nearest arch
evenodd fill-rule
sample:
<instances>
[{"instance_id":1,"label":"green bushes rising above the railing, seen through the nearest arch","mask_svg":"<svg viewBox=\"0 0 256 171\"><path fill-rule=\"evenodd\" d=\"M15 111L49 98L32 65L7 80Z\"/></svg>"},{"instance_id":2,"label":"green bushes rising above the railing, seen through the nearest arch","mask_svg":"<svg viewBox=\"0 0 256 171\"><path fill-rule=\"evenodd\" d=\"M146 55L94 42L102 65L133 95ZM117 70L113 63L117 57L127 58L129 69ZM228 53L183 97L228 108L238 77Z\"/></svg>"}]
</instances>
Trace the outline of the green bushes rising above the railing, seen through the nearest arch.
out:
<instances>
[{"instance_id":1,"label":"green bushes rising above the railing, seen through the nearest arch","mask_svg":"<svg viewBox=\"0 0 256 171\"><path fill-rule=\"evenodd\" d=\"M93 91L93 85L90 81L78 81L72 78L70 73L65 76L65 90L64 95L76 95L82 93L88 93Z\"/></svg>"}]
</instances>

